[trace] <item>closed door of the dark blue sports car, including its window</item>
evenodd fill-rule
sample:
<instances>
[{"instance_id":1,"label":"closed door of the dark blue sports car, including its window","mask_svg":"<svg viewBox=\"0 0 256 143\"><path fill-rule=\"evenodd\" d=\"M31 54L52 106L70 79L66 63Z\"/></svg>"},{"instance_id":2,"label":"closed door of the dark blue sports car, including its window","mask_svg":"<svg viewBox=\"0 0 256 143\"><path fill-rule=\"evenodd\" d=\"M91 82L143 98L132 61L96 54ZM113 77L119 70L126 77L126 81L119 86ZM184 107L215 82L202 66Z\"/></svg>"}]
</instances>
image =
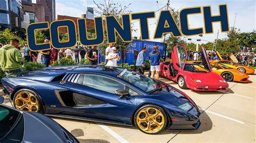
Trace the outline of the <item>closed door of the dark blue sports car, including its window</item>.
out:
<instances>
[{"instance_id":1,"label":"closed door of the dark blue sports car, including its window","mask_svg":"<svg viewBox=\"0 0 256 143\"><path fill-rule=\"evenodd\" d=\"M76 85L70 88L79 115L119 122L130 121L134 106L132 97L120 98L114 92L126 89L130 95L138 95L132 88L109 76L80 74Z\"/></svg>"}]
</instances>

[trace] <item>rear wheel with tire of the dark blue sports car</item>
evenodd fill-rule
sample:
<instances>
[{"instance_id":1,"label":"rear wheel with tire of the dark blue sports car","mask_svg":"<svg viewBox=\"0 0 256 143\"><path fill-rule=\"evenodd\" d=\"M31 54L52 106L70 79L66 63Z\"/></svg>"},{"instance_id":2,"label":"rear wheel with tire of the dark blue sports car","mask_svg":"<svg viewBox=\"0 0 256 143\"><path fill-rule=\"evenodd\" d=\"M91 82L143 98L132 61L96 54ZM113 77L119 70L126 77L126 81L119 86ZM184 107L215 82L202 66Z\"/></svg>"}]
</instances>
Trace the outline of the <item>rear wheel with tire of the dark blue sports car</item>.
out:
<instances>
[{"instance_id":1,"label":"rear wheel with tire of the dark blue sports car","mask_svg":"<svg viewBox=\"0 0 256 143\"><path fill-rule=\"evenodd\" d=\"M42 112L42 105L36 92L29 89L20 89L14 95L16 109L31 112Z\"/></svg>"}]
</instances>

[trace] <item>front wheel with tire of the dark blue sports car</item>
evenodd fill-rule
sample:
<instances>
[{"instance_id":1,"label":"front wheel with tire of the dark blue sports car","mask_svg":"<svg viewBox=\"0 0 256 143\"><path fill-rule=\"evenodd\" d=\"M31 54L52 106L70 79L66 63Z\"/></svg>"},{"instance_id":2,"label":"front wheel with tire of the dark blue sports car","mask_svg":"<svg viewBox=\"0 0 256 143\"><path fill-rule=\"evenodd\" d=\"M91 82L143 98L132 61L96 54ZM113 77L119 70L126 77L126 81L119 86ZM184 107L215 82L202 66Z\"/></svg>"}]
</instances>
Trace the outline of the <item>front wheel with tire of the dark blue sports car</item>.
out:
<instances>
[{"instance_id":1,"label":"front wheel with tire of the dark blue sports car","mask_svg":"<svg viewBox=\"0 0 256 143\"><path fill-rule=\"evenodd\" d=\"M156 134L164 130L167 125L167 115L159 106L148 104L136 111L134 122L140 131Z\"/></svg>"}]
</instances>

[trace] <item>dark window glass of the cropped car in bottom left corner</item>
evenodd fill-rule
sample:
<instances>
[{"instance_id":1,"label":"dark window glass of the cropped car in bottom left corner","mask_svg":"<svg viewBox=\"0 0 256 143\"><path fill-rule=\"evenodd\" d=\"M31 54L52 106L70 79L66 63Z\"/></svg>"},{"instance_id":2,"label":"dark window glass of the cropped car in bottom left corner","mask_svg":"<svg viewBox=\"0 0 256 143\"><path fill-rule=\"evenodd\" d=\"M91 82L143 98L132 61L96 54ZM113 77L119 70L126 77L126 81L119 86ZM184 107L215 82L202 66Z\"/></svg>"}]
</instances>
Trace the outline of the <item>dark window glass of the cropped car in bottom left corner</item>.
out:
<instances>
[{"instance_id":1,"label":"dark window glass of the cropped car in bottom left corner","mask_svg":"<svg viewBox=\"0 0 256 143\"><path fill-rule=\"evenodd\" d=\"M0 140L9 133L19 119L20 112L0 105Z\"/></svg>"}]
</instances>

